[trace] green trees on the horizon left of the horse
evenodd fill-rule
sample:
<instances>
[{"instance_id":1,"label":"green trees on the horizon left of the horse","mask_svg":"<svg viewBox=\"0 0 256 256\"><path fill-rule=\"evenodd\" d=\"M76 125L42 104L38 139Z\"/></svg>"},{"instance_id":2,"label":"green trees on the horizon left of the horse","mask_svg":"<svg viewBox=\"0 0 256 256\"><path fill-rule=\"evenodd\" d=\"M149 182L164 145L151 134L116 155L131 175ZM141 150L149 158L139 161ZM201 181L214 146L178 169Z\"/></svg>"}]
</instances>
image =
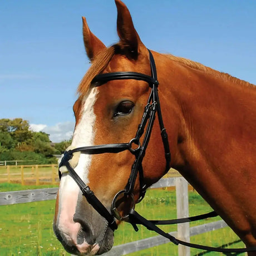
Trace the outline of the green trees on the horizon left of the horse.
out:
<instances>
[{"instance_id":1,"label":"green trees on the horizon left of the horse","mask_svg":"<svg viewBox=\"0 0 256 256\"><path fill-rule=\"evenodd\" d=\"M25 160L22 164L56 164L71 140L52 144L45 132L29 130L21 118L0 119L0 161ZM35 162L35 163L34 163Z\"/></svg>"}]
</instances>

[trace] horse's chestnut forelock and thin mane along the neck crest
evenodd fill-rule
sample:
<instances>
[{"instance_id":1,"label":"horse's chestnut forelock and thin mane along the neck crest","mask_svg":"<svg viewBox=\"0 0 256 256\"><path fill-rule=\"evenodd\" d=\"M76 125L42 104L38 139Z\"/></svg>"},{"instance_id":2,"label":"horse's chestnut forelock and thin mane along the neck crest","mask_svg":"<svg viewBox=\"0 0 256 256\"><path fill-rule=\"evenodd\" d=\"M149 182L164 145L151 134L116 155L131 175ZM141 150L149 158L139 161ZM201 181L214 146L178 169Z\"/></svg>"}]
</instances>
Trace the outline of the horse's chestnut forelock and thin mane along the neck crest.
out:
<instances>
[{"instance_id":1,"label":"horse's chestnut forelock and thin mane along the neck crest","mask_svg":"<svg viewBox=\"0 0 256 256\"><path fill-rule=\"evenodd\" d=\"M91 67L88 69L85 76L83 76L80 85L77 88L77 93L80 97L86 95L87 91L91 86L92 79L107 67L111 58L115 55L116 46L118 45L113 45L108 48L105 48L98 55L95 56L95 58L92 61ZM216 71L213 68L206 67L199 62L191 61L187 58L177 57L170 54L166 54L165 56L170 58L170 60L180 63L180 65L193 68L194 70L210 73L215 76L219 76L220 78L223 78L226 81L231 81L243 86L253 86L255 88L255 86L252 83L240 80L236 77L229 75L228 73Z\"/></svg>"}]
</instances>

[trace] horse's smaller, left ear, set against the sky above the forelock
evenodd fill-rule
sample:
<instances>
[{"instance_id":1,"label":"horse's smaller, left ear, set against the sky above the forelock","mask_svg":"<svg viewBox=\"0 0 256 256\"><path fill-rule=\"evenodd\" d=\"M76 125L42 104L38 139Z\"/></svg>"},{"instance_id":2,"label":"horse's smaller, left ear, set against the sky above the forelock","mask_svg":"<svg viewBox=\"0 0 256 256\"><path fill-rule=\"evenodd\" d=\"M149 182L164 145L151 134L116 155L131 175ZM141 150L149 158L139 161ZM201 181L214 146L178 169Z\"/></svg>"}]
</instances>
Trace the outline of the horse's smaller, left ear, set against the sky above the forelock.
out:
<instances>
[{"instance_id":1,"label":"horse's smaller, left ear, set against the sky above the forelock","mask_svg":"<svg viewBox=\"0 0 256 256\"><path fill-rule=\"evenodd\" d=\"M83 21L83 42L85 43L85 50L88 58L92 61L93 58L102 50L106 48L104 43L102 43L99 38L97 38L90 31L86 18L82 17Z\"/></svg>"}]
</instances>

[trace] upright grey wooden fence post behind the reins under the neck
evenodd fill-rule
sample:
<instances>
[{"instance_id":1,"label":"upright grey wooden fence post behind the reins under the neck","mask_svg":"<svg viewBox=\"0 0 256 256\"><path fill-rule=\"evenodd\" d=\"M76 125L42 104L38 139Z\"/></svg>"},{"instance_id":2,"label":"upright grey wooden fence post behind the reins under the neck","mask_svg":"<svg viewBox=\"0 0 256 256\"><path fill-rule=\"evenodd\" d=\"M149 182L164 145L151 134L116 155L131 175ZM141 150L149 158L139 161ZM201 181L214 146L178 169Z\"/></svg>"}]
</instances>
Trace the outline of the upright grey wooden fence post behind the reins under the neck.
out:
<instances>
[{"instance_id":1,"label":"upright grey wooden fence post behind the reins under the neck","mask_svg":"<svg viewBox=\"0 0 256 256\"><path fill-rule=\"evenodd\" d=\"M176 178L176 208L177 218L189 216L188 181ZM178 224L178 239L190 242L189 223ZM190 256L190 248L178 245L179 256Z\"/></svg>"}]
</instances>

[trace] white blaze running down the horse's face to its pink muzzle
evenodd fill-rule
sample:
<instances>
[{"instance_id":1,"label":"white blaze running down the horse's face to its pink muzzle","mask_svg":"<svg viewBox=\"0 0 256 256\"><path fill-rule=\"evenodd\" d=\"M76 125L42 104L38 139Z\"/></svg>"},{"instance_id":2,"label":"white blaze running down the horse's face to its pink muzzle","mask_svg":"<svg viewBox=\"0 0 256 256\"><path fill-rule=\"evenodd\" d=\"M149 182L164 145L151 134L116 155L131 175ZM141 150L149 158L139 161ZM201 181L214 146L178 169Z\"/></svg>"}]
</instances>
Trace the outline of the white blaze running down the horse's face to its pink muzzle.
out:
<instances>
[{"instance_id":1,"label":"white blaze running down the horse's face to its pink muzzle","mask_svg":"<svg viewBox=\"0 0 256 256\"><path fill-rule=\"evenodd\" d=\"M93 133L93 127L96 120L96 116L93 112L93 106L96 101L97 92L97 88L92 88L83 102L81 118L76 125L73 134L73 140L70 146L71 149L93 145L95 136ZM75 171L85 184L88 183L88 171L90 164L91 155L80 154ZM77 233L81 227L80 223L75 223L73 221L79 191L80 189L72 177L67 173L63 174L59 188L57 228L60 230L61 234L65 236L64 239L69 245L77 245Z\"/></svg>"}]
</instances>

